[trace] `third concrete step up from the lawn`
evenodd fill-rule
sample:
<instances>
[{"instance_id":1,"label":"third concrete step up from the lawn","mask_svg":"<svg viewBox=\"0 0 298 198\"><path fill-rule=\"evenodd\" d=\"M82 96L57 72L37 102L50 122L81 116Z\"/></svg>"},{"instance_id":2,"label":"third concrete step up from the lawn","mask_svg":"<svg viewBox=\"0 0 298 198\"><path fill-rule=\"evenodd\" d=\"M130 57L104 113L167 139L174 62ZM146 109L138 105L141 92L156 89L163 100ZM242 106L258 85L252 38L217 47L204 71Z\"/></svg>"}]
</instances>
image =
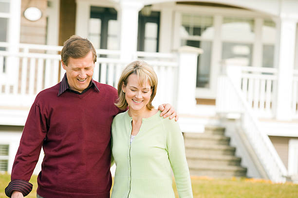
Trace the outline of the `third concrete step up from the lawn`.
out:
<instances>
[{"instance_id":1,"label":"third concrete step up from the lawn","mask_svg":"<svg viewBox=\"0 0 298 198\"><path fill-rule=\"evenodd\" d=\"M185 146L186 157L189 155L235 155L236 148L226 145Z\"/></svg>"}]
</instances>

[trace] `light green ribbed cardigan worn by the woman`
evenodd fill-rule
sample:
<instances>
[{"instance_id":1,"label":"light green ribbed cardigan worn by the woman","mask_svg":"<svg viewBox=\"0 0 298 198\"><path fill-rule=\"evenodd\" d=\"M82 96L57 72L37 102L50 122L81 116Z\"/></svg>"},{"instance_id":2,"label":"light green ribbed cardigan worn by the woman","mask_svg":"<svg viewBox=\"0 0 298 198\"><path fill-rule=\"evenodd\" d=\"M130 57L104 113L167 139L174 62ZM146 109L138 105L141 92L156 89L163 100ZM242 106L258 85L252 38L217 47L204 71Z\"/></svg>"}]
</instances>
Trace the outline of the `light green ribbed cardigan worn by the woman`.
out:
<instances>
[{"instance_id":1,"label":"light green ribbed cardigan worn by the woman","mask_svg":"<svg viewBox=\"0 0 298 198\"><path fill-rule=\"evenodd\" d=\"M192 198L184 140L174 120L160 111L143 118L130 145L128 111L112 122L112 156L116 164L112 198L174 198L172 170L180 198Z\"/></svg>"}]
</instances>

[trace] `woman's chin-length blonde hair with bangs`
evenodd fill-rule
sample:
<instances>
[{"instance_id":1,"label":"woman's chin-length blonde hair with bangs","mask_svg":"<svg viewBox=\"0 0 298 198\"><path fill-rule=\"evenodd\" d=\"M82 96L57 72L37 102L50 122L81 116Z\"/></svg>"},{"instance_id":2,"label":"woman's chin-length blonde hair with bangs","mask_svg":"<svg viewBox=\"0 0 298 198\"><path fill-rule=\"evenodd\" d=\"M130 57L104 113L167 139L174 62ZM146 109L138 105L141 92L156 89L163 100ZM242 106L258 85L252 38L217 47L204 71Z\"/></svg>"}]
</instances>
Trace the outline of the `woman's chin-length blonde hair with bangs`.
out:
<instances>
[{"instance_id":1,"label":"woman's chin-length blonde hair with bangs","mask_svg":"<svg viewBox=\"0 0 298 198\"><path fill-rule=\"evenodd\" d=\"M148 65L145 61L133 61L128 66L126 66L120 76L119 82L118 82L118 99L115 103L115 105L119 109L126 109L128 106L128 103L125 99L125 93L122 91L122 85L127 85L128 77L130 74L136 74L138 77L139 84L143 85L149 80L152 94L150 96L150 100L147 104L147 108L151 110L154 108L152 106L152 100L154 99L156 95L156 89L157 89L157 76L154 72L153 68Z\"/></svg>"}]
</instances>

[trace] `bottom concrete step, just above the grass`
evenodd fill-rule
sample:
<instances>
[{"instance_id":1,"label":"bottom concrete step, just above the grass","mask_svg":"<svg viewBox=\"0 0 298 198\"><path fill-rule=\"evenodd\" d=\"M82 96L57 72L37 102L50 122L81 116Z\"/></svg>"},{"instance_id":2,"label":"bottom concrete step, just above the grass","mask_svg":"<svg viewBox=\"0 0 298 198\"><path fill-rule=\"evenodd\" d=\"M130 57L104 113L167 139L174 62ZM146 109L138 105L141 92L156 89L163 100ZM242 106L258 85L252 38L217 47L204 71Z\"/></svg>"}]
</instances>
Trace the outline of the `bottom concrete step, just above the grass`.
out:
<instances>
[{"instance_id":1,"label":"bottom concrete step, just above the grass","mask_svg":"<svg viewBox=\"0 0 298 198\"><path fill-rule=\"evenodd\" d=\"M201 166L189 167L191 176L208 176L216 178L245 177L246 168L240 166Z\"/></svg>"}]
</instances>

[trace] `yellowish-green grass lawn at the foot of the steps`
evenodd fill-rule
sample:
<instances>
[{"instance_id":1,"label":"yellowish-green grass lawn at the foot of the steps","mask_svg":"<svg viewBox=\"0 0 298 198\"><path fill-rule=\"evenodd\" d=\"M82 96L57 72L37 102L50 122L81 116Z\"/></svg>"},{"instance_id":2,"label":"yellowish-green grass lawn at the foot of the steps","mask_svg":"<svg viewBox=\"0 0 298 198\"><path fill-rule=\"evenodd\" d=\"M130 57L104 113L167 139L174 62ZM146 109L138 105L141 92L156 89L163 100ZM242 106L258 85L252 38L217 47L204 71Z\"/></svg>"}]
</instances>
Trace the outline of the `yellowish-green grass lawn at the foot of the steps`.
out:
<instances>
[{"instance_id":1,"label":"yellowish-green grass lawn at the foot of the steps","mask_svg":"<svg viewBox=\"0 0 298 198\"><path fill-rule=\"evenodd\" d=\"M36 198L37 176L32 176L33 190L26 198ZM0 198L6 198L4 188L10 181L10 175L0 173ZM231 178L212 179L207 177L192 177L194 198L296 198L298 184L271 183L266 180ZM174 191L178 198L175 183Z\"/></svg>"}]
</instances>

